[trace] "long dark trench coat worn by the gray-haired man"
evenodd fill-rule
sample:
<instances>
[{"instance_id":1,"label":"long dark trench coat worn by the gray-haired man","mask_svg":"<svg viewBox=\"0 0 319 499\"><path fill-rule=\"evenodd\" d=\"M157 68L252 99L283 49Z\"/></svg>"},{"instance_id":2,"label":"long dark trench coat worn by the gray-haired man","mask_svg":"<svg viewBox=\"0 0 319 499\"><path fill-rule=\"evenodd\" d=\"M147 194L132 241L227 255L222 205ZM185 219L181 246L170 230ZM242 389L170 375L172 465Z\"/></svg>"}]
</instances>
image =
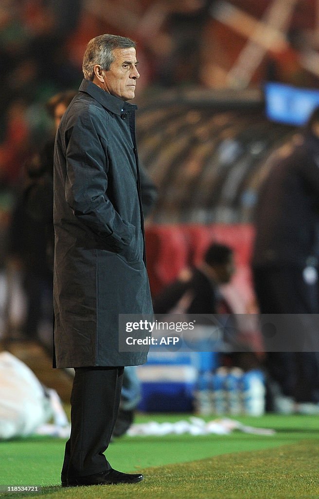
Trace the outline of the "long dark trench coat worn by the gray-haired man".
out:
<instances>
[{"instance_id":1,"label":"long dark trench coat worn by the gray-haired man","mask_svg":"<svg viewBox=\"0 0 319 499\"><path fill-rule=\"evenodd\" d=\"M54 153L56 367L128 366L118 314L152 313L135 108L83 80Z\"/></svg>"}]
</instances>

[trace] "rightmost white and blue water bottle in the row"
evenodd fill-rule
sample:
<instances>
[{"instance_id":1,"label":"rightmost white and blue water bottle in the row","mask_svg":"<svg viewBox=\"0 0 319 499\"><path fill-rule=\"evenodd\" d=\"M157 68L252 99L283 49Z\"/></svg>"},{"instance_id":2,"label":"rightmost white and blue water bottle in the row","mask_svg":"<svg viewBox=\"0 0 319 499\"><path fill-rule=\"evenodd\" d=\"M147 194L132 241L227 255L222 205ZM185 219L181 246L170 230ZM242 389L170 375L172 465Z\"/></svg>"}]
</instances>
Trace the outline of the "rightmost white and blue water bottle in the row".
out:
<instances>
[{"instance_id":1,"label":"rightmost white and blue water bottle in the row","mask_svg":"<svg viewBox=\"0 0 319 499\"><path fill-rule=\"evenodd\" d=\"M244 414L262 416L265 412L265 376L259 369L247 371L242 377Z\"/></svg>"}]
</instances>

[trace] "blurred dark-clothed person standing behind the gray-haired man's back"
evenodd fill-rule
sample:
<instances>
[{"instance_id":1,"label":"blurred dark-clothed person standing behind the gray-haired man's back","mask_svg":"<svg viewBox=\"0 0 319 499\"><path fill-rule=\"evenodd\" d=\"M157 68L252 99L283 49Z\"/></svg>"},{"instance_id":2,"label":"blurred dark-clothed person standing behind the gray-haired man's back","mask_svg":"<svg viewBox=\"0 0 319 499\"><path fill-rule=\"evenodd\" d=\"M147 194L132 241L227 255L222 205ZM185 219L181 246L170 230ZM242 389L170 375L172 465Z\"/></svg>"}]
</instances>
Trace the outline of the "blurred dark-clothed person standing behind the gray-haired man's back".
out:
<instances>
[{"instance_id":1,"label":"blurred dark-clothed person standing behind the gray-haired man's back","mask_svg":"<svg viewBox=\"0 0 319 499\"><path fill-rule=\"evenodd\" d=\"M53 286L53 152L55 131L76 92L52 97L47 109L54 119L52 137L25 165L25 188L18 197L10 226L10 258L22 265L26 317L22 338L39 341L52 355ZM42 324L45 329L41 331Z\"/></svg>"}]
</instances>

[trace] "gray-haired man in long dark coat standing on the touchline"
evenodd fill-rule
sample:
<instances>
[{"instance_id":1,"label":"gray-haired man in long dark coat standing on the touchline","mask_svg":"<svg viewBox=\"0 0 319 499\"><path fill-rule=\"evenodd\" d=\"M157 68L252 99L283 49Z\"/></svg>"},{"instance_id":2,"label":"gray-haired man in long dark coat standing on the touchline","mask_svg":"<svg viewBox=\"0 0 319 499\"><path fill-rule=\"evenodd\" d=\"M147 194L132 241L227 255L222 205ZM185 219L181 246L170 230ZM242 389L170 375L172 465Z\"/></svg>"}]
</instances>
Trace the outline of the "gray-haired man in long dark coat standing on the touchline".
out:
<instances>
[{"instance_id":1,"label":"gray-haired man in long dark coat standing on the touchline","mask_svg":"<svg viewBox=\"0 0 319 499\"><path fill-rule=\"evenodd\" d=\"M54 155L54 313L57 367L74 367L71 436L62 485L136 483L106 450L123 366L146 352L120 352L118 315L152 313L145 268L134 97L135 43L101 35L83 59L78 95L64 114Z\"/></svg>"}]
</instances>

